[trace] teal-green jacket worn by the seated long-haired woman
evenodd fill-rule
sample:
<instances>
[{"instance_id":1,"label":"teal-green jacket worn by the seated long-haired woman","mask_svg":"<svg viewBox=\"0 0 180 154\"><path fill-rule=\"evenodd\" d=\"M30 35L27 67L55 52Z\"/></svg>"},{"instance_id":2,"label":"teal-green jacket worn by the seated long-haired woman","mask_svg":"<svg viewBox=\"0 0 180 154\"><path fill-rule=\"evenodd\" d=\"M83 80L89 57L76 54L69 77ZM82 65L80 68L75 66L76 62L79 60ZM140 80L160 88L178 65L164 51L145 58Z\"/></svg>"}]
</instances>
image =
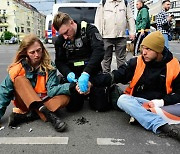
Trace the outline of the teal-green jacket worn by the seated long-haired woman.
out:
<instances>
[{"instance_id":1,"label":"teal-green jacket worn by the seated long-haired woman","mask_svg":"<svg viewBox=\"0 0 180 154\"><path fill-rule=\"evenodd\" d=\"M35 87L37 81L37 74L46 75L45 72L39 72L39 70L31 71L30 66L26 61L22 61L22 66L26 71L26 78L31 82L31 85ZM55 65L52 63L55 67ZM59 84L58 77L56 75L57 69L48 72L48 80L46 82L47 95L53 97L59 94L70 95L69 86L70 83ZM14 85L8 74L6 78L0 84L0 119L4 115L7 106L11 100L14 99Z\"/></svg>"}]
</instances>

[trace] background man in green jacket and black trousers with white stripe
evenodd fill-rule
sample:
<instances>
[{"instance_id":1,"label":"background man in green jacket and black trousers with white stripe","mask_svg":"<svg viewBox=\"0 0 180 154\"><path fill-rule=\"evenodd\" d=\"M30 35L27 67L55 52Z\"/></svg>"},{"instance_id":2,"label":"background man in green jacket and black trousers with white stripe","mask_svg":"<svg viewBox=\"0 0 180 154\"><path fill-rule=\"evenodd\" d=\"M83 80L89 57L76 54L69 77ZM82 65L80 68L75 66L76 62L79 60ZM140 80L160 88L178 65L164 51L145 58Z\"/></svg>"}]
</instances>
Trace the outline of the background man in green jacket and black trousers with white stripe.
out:
<instances>
[{"instance_id":1,"label":"background man in green jacket and black trousers with white stripe","mask_svg":"<svg viewBox=\"0 0 180 154\"><path fill-rule=\"evenodd\" d=\"M137 0L136 8L138 10L136 17L136 39L134 41L134 56L137 55L139 51L140 44L142 40L148 35L150 30L150 18L149 18L149 8L144 5L143 0Z\"/></svg>"}]
</instances>

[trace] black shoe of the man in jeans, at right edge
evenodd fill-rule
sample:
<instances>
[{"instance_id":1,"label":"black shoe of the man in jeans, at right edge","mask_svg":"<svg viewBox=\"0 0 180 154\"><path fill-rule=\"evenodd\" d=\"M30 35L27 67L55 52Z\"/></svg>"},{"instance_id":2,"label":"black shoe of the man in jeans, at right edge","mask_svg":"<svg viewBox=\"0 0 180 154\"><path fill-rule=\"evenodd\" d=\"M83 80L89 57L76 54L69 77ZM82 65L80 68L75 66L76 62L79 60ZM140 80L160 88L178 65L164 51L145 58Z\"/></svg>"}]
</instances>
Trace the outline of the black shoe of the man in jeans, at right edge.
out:
<instances>
[{"instance_id":1,"label":"black shoe of the man in jeans, at right edge","mask_svg":"<svg viewBox=\"0 0 180 154\"><path fill-rule=\"evenodd\" d=\"M178 128L175 124L165 124L161 126L160 130L167 134L169 137L175 138L180 141L180 128Z\"/></svg>"}]
</instances>

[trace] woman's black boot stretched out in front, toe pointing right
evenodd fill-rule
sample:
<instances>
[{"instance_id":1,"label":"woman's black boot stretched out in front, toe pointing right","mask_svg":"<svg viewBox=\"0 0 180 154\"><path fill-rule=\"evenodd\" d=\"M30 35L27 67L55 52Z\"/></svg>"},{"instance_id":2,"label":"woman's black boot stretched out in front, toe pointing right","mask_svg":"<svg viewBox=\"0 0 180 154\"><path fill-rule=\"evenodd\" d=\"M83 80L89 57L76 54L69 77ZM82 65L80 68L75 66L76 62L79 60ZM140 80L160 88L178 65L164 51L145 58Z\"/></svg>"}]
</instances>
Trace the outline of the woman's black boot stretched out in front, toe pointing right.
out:
<instances>
[{"instance_id":1,"label":"woman's black boot stretched out in front, toe pointing right","mask_svg":"<svg viewBox=\"0 0 180 154\"><path fill-rule=\"evenodd\" d=\"M66 129L67 124L62 122L59 117L57 117L53 112L49 111L45 106L42 106L39 111L45 115L49 122L52 123L57 132L63 132Z\"/></svg>"}]
</instances>

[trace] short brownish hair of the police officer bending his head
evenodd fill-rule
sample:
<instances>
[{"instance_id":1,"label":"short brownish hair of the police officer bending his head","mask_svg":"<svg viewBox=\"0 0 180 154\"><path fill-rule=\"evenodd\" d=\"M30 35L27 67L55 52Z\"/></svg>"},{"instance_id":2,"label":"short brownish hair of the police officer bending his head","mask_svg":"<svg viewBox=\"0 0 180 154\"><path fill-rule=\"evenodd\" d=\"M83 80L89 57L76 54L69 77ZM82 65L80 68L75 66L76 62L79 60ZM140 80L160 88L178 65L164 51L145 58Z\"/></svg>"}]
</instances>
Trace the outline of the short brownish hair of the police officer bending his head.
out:
<instances>
[{"instance_id":1,"label":"short brownish hair of the police officer bending his head","mask_svg":"<svg viewBox=\"0 0 180 154\"><path fill-rule=\"evenodd\" d=\"M67 14L63 12L58 12L53 19L53 27L56 31L59 31L59 28L63 24L67 24L72 18Z\"/></svg>"}]
</instances>

